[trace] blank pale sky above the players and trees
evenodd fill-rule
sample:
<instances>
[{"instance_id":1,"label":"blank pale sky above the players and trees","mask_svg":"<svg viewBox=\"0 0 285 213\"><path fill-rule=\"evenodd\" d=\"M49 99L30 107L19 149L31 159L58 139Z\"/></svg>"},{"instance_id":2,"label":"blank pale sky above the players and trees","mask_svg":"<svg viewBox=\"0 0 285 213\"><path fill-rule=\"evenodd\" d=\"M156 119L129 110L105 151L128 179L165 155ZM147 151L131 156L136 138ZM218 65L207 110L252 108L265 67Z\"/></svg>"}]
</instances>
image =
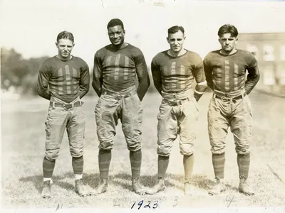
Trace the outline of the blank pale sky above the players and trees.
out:
<instances>
[{"instance_id":1,"label":"blank pale sky above the players and trees","mask_svg":"<svg viewBox=\"0 0 285 213\"><path fill-rule=\"evenodd\" d=\"M24 58L56 55L56 36L71 31L73 55L93 64L96 50L109 44L107 23L120 18L125 41L138 46L147 63L169 48L167 28L185 28L185 48L204 57L219 48L217 30L234 24L239 33L285 32L285 3L182 0L0 0L1 45ZM155 6L156 5L156 6ZM158 6L157 6L158 5Z\"/></svg>"}]
</instances>

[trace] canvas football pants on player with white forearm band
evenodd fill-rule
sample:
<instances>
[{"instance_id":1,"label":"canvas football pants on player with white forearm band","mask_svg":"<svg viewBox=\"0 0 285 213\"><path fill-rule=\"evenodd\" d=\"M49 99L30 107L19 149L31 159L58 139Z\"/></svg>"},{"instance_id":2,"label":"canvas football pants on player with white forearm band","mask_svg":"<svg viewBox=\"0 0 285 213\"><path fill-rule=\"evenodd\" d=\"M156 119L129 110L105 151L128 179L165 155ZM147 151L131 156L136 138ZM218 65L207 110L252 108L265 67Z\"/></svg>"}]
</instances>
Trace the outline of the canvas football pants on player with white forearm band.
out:
<instances>
[{"instance_id":1,"label":"canvas football pants on player with white forearm band","mask_svg":"<svg viewBox=\"0 0 285 213\"><path fill-rule=\"evenodd\" d=\"M169 156L177 136L180 136L180 153L192 155L199 116L192 93L192 89L177 94L162 92L162 103L157 116L158 155Z\"/></svg>"}]
</instances>

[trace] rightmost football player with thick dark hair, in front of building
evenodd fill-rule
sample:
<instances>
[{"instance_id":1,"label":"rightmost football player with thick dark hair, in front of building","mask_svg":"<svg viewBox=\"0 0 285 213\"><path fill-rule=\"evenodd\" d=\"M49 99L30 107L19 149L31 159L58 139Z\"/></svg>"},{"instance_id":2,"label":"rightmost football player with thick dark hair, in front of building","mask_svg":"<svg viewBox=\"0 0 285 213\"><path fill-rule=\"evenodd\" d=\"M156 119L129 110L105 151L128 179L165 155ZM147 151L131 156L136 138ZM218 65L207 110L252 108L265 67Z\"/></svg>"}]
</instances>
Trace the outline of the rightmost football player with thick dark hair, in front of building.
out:
<instances>
[{"instance_id":1,"label":"rightmost football player with thick dark hair, in front of building","mask_svg":"<svg viewBox=\"0 0 285 213\"><path fill-rule=\"evenodd\" d=\"M214 91L209 103L208 132L217 184L209 190L209 195L226 190L224 152L229 127L237 152L239 192L254 195L247 183L252 141L252 107L248 95L259 81L257 60L252 53L236 48L238 31L231 24L221 26L218 35L222 48L204 58L207 84Z\"/></svg>"}]
</instances>

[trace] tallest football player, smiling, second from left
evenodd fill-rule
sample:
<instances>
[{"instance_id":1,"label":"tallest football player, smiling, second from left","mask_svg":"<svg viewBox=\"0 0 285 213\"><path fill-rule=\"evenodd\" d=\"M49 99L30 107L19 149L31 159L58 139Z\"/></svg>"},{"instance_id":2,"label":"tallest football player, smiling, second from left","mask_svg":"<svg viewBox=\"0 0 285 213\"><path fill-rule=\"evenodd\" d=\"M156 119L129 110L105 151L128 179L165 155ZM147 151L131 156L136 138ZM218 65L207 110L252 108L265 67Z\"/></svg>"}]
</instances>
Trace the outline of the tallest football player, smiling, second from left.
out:
<instances>
[{"instance_id":1,"label":"tallest football player, smiling, second from left","mask_svg":"<svg viewBox=\"0 0 285 213\"><path fill-rule=\"evenodd\" d=\"M144 194L145 189L139 182L142 98L150 86L150 77L140 49L125 43L123 22L114 18L108 23L107 30L111 44L98 50L94 57L92 86L100 97L95 107L100 183L92 194L98 195L107 190L115 127L119 119L130 151L133 190ZM135 85L137 77L138 88Z\"/></svg>"}]
</instances>

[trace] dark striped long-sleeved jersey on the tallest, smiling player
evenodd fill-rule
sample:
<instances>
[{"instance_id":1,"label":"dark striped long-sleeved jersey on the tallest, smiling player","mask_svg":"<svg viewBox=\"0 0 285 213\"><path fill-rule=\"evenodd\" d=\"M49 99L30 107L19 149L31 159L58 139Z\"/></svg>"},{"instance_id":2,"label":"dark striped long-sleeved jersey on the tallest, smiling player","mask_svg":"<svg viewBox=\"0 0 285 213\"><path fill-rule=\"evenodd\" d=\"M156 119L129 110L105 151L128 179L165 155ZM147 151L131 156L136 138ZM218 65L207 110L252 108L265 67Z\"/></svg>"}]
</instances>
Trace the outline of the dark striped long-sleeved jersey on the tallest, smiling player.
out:
<instances>
[{"instance_id":1,"label":"dark striped long-sleeved jersey on the tallest, smiling player","mask_svg":"<svg viewBox=\"0 0 285 213\"><path fill-rule=\"evenodd\" d=\"M100 97L102 87L119 92L135 85L138 76L138 97L145 96L150 87L145 58L139 48L128 44L114 49L107 45L95 53L92 86Z\"/></svg>"}]
</instances>

